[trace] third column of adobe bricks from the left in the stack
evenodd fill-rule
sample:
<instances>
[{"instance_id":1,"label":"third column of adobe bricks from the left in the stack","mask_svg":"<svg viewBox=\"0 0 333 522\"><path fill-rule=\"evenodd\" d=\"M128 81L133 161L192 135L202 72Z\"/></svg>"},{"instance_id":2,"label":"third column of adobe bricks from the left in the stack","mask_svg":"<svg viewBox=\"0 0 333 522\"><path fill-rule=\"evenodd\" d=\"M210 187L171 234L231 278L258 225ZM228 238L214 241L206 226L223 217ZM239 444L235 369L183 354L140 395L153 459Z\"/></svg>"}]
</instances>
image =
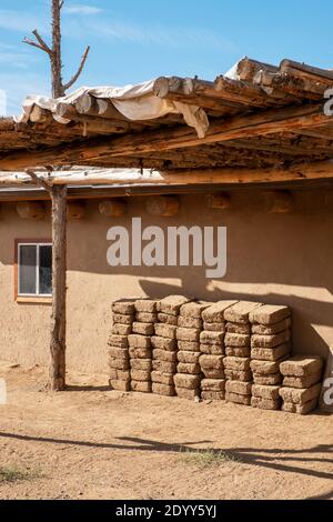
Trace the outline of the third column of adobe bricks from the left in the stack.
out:
<instances>
[{"instance_id":1,"label":"third column of adobe bricks from the left in the stack","mask_svg":"<svg viewBox=\"0 0 333 522\"><path fill-rule=\"evenodd\" d=\"M158 303L158 322L151 339L153 347L152 391L159 395L173 396L176 393L174 375L176 374L178 317L189 299L182 295L170 295Z\"/></svg>"}]
</instances>

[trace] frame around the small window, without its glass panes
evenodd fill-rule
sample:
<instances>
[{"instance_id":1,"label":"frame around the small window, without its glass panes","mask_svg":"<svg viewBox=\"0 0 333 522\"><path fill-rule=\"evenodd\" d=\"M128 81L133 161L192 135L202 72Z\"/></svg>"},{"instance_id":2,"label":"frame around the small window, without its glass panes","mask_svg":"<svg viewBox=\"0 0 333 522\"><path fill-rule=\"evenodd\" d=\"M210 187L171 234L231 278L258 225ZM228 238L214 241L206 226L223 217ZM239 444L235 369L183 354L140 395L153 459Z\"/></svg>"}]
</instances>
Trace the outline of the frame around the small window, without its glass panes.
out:
<instances>
[{"instance_id":1,"label":"frame around the small window, without its glass panes","mask_svg":"<svg viewBox=\"0 0 333 522\"><path fill-rule=\"evenodd\" d=\"M16 251L14 251L14 300L20 303L40 303L40 304L51 304L52 303L52 293L19 293L20 285L20 258L21 258L21 247L37 247L37 263L36 263L36 290L39 292L39 282L40 282L40 248L41 247L51 247L52 240L50 239L17 239L16 240Z\"/></svg>"}]
</instances>

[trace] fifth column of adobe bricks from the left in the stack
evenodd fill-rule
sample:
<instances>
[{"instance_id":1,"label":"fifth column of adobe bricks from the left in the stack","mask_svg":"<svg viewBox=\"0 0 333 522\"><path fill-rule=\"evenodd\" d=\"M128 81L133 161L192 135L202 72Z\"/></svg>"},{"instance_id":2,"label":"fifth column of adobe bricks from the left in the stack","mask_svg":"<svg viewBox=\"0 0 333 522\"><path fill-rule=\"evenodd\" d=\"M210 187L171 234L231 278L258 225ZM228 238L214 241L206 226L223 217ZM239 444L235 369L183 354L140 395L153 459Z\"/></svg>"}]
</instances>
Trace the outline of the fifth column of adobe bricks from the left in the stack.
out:
<instances>
[{"instance_id":1,"label":"fifth column of adobe bricks from the left in the stack","mask_svg":"<svg viewBox=\"0 0 333 522\"><path fill-rule=\"evenodd\" d=\"M235 301L219 301L202 312L203 331L200 334L200 367L204 378L201 381L203 400L221 401L225 398L224 334L225 310Z\"/></svg>"}]
</instances>

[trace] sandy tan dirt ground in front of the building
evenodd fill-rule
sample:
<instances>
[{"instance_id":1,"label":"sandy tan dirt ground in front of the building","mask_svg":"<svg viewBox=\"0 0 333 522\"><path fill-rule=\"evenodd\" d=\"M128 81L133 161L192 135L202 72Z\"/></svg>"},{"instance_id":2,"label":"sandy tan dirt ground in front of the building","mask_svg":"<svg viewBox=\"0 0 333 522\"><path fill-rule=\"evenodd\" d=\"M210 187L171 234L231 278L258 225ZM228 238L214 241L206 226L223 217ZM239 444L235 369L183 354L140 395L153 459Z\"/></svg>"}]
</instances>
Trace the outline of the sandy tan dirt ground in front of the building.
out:
<instances>
[{"instance_id":1,"label":"sandy tan dirt ground in front of the building","mask_svg":"<svg viewBox=\"0 0 333 522\"><path fill-rule=\"evenodd\" d=\"M0 469L30 473L0 480L2 500L333 500L332 415L119 393L103 375L50 393L43 369L8 363L0 378Z\"/></svg>"}]
</instances>

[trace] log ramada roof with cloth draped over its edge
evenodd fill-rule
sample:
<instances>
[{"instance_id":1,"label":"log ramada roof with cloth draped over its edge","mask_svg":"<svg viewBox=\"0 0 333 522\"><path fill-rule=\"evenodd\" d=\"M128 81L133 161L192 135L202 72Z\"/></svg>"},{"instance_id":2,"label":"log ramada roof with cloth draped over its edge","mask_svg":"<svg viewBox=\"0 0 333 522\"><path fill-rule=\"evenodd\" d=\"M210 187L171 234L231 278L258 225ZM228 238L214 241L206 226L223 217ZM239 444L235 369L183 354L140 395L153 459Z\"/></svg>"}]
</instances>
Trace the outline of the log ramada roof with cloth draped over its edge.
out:
<instances>
[{"instance_id":1,"label":"log ramada roof with cloth draped over its edge","mask_svg":"<svg viewBox=\"0 0 333 522\"><path fill-rule=\"evenodd\" d=\"M54 171L56 183L75 185L117 184L102 169L134 169L130 184L327 182L332 88L333 71L244 58L214 81L163 77L58 100L28 97L20 118L0 120L0 170L9 171L0 185L28 183L10 172L47 165L69 172ZM70 170L78 164L98 169L80 178Z\"/></svg>"}]
</instances>

